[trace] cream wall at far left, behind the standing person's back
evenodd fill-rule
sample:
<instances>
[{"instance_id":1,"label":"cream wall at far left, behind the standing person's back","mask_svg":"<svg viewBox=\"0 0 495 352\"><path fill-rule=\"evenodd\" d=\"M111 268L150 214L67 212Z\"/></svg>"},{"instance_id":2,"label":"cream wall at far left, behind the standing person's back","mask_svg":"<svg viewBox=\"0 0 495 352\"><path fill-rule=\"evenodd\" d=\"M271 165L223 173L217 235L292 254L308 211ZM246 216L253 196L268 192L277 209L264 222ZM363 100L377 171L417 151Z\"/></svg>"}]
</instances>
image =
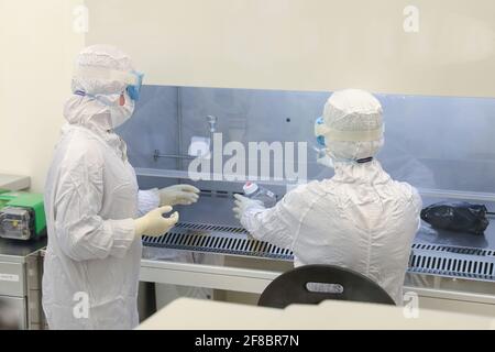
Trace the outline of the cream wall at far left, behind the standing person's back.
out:
<instances>
[{"instance_id":1,"label":"cream wall at far left, behind the standing person's back","mask_svg":"<svg viewBox=\"0 0 495 352\"><path fill-rule=\"evenodd\" d=\"M0 0L0 173L31 176L34 191L43 190L84 43L72 26L77 2Z\"/></svg>"}]
</instances>

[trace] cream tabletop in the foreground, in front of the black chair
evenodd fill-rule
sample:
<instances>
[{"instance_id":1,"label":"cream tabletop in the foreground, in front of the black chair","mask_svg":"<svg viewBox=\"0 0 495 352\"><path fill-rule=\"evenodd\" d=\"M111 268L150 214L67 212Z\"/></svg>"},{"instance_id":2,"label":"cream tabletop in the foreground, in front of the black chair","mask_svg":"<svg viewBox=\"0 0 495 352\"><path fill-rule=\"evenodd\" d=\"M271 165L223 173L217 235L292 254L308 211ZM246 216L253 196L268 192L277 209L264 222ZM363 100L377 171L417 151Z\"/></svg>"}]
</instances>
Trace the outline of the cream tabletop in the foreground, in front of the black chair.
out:
<instances>
[{"instance_id":1,"label":"cream tabletop in the foreground, in front of the black chair","mask_svg":"<svg viewBox=\"0 0 495 352\"><path fill-rule=\"evenodd\" d=\"M408 311L410 312L410 311ZM145 320L140 330L163 329L495 329L495 318L420 309L406 318L404 308L327 300L318 306L273 309L179 298Z\"/></svg>"}]
</instances>

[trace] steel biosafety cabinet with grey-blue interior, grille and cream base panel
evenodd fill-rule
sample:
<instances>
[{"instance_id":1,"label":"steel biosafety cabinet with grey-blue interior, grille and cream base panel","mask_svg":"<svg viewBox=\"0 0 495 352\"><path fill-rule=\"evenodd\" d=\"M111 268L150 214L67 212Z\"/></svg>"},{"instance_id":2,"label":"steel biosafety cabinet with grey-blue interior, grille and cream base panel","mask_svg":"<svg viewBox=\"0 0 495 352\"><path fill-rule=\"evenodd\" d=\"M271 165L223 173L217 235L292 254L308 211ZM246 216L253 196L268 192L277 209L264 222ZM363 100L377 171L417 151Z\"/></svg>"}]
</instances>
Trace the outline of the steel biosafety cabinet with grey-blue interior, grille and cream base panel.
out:
<instances>
[{"instance_id":1,"label":"steel biosafety cabinet with grey-blue interior, grille and cream base panel","mask_svg":"<svg viewBox=\"0 0 495 352\"><path fill-rule=\"evenodd\" d=\"M134 117L118 131L140 187L186 183L201 197L177 207L180 222L166 235L144 238L142 279L258 294L290 268L290 251L257 242L242 229L231 210L233 195L246 179L279 199L298 184L332 177L331 168L317 163L314 135L329 95L143 87ZM417 187L424 207L465 200L495 210L495 99L376 96L385 120L385 146L376 157L393 178ZM266 155L263 145L270 147ZM418 295L424 307L494 315L491 221L477 235L422 222L411 248L406 301ZM177 262L156 248L194 254Z\"/></svg>"}]
</instances>

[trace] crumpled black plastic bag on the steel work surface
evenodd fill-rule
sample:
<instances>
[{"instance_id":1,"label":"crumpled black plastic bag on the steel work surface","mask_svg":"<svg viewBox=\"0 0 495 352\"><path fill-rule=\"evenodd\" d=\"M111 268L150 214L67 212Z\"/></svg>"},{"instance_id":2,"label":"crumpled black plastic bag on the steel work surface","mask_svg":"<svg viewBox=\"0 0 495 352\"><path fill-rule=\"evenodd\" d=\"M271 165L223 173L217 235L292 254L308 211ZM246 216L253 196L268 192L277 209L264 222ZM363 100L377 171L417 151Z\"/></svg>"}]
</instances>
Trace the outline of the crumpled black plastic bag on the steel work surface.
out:
<instances>
[{"instance_id":1,"label":"crumpled black plastic bag on the steel work surface","mask_svg":"<svg viewBox=\"0 0 495 352\"><path fill-rule=\"evenodd\" d=\"M488 227L487 209L466 201L441 201L421 210L421 219L433 228L483 234Z\"/></svg>"}]
</instances>

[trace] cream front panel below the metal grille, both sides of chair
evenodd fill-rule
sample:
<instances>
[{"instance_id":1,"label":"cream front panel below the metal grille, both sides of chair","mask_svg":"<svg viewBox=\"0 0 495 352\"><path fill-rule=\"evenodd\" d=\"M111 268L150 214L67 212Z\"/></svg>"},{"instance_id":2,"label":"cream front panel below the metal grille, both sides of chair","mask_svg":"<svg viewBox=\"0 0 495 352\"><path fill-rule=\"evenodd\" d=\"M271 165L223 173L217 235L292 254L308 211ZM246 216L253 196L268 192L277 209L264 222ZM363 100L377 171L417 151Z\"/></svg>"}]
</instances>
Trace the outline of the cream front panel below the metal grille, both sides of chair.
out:
<instances>
[{"instance_id":1,"label":"cream front panel below the metal grille, both sides of chair","mask_svg":"<svg viewBox=\"0 0 495 352\"><path fill-rule=\"evenodd\" d=\"M243 293L248 302L282 273L293 268L283 260L210 254L209 262L180 263L165 260L141 261L141 280L155 284L206 287L220 292ZM406 274L405 304L417 299L422 308L495 317L495 283L433 274ZM232 297L235 297L232 295ZM254 297L254 298L253 298Z\"/></svg>"}]
</instances>

